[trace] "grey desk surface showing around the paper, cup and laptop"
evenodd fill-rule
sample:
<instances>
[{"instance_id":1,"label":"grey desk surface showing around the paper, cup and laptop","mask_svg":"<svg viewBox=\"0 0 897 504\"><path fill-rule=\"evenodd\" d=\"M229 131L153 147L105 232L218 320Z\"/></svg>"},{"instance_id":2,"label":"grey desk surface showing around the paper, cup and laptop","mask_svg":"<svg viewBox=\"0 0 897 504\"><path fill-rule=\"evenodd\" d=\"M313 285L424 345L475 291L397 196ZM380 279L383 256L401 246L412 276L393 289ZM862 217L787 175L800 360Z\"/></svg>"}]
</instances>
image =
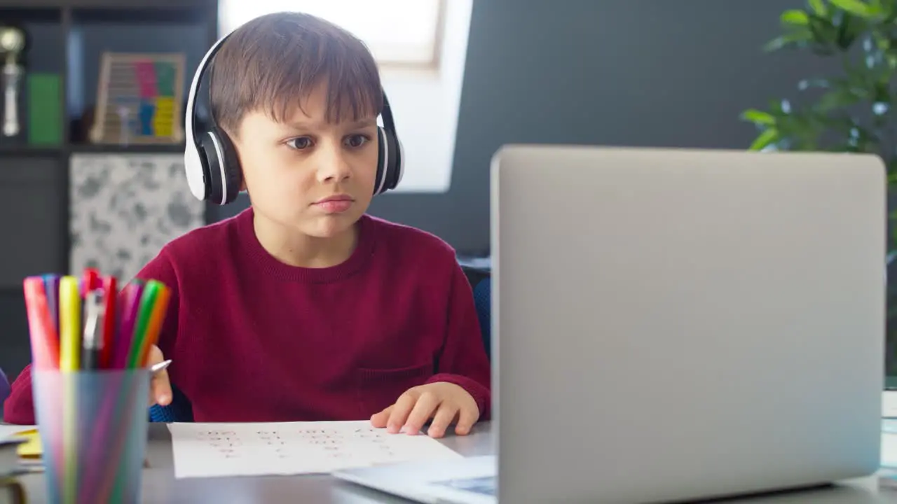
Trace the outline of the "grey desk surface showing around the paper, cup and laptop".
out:
<instances>
[{"instance_id":1,"label":"grey desk surface showing around the paper, cup and laptop","mask_svg":"<svg viewBox=\"0 0 897 504\"><path fill-rule=\"evenodd\" d=\"M477 426L466 437L448 437L442 442L465 456L490 455L493 453L491 430L491 425L485 422ZM340 482L327 475L177 480L174 477L170 433L161 423L150 425L147 458L150 468L144 470L144 502L165 504L201 504L204 502L216 504L255 504L257 502L407 503L407 500L392 498L348 482ZM22 483L28 491L30 504L46 501L42 474L22 476ZM874 477L869 477L814 491L784 492L753 499L727 500L726 502L866 504L895 500L897 500L897 490L879 491L877 480Z\"/></svg>"}]
</instances>

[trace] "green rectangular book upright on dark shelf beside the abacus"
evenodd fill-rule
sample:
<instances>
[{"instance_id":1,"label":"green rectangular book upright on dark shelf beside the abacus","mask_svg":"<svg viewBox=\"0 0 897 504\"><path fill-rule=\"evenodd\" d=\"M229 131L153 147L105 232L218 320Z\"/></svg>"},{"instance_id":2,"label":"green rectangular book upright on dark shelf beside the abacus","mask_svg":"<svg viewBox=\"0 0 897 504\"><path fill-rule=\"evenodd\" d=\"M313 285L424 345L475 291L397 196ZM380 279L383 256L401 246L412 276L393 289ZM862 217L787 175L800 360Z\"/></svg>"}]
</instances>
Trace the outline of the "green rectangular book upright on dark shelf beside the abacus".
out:
<instances>
[{"instance_id":1,"label":"green rectangular book upright on dark shelf beside the abacus","mask_svg":"<svg viewBox=\"0 0 897 504\"><path fill-rule=\"evenodd\" d=\"M32 146L62 144L62 82L58 74L26 74L28 82L28 143Z\"/></svg>"}]
</instances>

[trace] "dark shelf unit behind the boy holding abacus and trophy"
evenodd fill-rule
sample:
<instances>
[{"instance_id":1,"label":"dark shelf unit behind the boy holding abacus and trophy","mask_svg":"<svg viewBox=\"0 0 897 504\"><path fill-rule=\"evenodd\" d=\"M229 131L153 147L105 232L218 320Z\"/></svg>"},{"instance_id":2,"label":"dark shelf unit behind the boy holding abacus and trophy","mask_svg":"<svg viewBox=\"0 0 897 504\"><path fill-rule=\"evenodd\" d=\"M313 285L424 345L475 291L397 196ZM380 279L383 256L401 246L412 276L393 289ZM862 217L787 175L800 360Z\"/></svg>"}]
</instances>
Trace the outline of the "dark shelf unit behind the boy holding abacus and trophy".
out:
<instances>
[{"instance_id":1,"label":"dark shelf unit behind the boy holding abacus and trophy","mask_svg":"<svg viewBox=\"0 0 897 504\"><path fill-rule=\"evenodd\" d=\"M17 141L0 136L0 236L7 244L0 248L0 368L14 376L29 359L22 278L70 272L72 157L183 152L182 144L122 146L87 140L103 51L183 53L181 106L186 107L190 78L218 37L218 2L0 0L0 26L9 24L27 33L22 57L26 76L58 76L58 85L50 89L58 89L57 117L62 117L57 142L30 144L27 133ZM27 90L26 84L20 89ZM19 115L27 121L27 91L20 94Z\"/></svg>"}]
</instances>

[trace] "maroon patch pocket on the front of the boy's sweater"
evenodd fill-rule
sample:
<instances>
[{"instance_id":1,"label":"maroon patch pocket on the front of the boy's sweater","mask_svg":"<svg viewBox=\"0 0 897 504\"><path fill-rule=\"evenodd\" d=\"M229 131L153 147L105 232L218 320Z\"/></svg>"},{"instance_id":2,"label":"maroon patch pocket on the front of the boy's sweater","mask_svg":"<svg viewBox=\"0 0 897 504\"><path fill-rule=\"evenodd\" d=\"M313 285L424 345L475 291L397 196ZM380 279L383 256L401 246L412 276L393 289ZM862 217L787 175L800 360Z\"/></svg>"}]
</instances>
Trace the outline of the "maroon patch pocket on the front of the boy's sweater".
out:
<instances>
[{"instance_id":1,"label":"maroon patch pocket on the front of the boy's sweater","mask_svg":"<svg viewBox=\"0 0 897 504\"><path fill-rule=\"evenodd\" d=\"M358 369L358 404L362 418L369 418L388 408L396 403L399 395L409 388L423 385L432 375L431 362L405 368Z\"/></svg>"}]
</instances>

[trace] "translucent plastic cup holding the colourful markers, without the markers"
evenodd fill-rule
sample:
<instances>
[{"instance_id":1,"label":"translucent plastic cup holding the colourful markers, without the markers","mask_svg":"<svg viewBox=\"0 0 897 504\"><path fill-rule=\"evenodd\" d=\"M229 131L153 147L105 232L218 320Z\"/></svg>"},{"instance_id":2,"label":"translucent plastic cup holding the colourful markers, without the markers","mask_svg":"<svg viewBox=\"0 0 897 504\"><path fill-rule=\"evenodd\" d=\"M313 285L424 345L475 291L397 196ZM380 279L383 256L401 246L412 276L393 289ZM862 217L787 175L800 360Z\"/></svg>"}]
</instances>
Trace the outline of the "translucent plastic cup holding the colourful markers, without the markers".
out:
<instances>
[{"instance_id":1,"label":"translucent plastic cup holding the colourful markers, without the markers","mask_svg":"<svg viewBox=\"0 0 897 504\"><path fill-rule=\"evenodd\" d=\"M140 502L149 369L34 369L50 504Z\"/></svg>"}]
</instances>

